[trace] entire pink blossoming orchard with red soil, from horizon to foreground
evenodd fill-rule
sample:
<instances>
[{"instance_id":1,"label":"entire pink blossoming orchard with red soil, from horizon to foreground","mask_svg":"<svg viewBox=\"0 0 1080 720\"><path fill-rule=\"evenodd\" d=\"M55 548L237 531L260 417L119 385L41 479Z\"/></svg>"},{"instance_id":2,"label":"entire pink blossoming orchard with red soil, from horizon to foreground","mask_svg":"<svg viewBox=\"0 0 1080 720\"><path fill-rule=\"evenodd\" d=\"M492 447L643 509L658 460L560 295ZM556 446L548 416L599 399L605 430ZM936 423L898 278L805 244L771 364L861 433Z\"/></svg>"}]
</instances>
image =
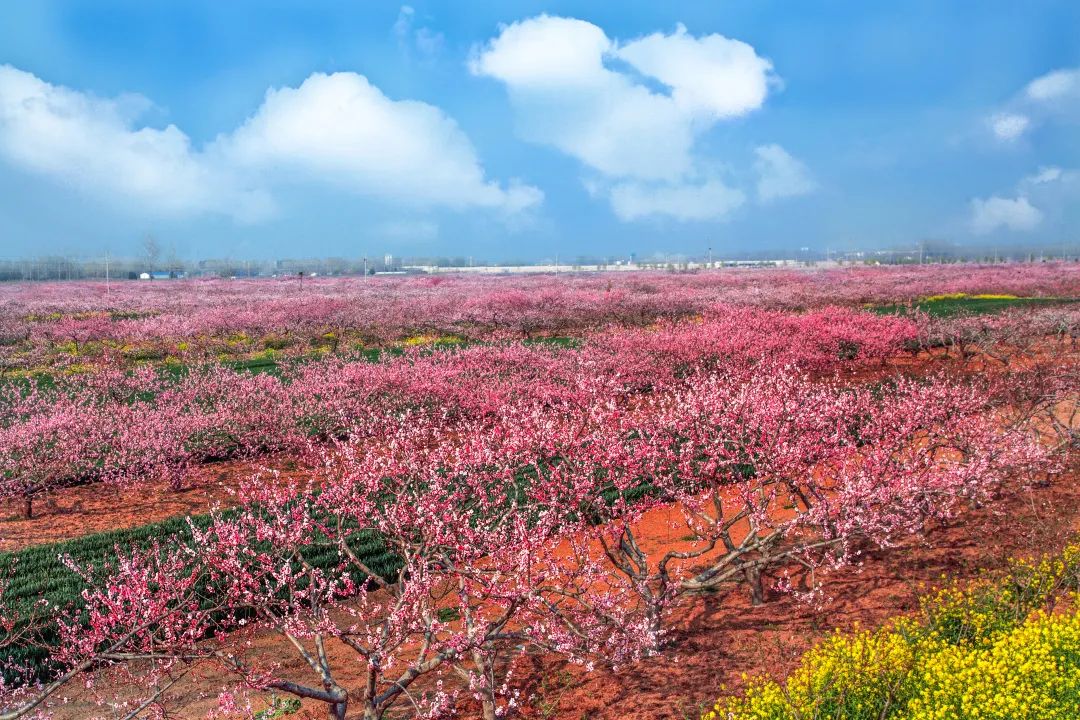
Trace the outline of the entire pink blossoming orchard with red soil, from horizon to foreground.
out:
<instances>
[{"instance_id":1,"label":"entire pink blossoming orchard with red soil, from horizon to foreground","mask_svg":"<svg viewBox=\"0 0 1080 720\"><path fill-rule=\"evenodd\" d=\"M834 629L1080 528L1078 299L1053 262L2 285L0 718L825 717L820 663L910 637Z\"/></svg>"}]
</instances>

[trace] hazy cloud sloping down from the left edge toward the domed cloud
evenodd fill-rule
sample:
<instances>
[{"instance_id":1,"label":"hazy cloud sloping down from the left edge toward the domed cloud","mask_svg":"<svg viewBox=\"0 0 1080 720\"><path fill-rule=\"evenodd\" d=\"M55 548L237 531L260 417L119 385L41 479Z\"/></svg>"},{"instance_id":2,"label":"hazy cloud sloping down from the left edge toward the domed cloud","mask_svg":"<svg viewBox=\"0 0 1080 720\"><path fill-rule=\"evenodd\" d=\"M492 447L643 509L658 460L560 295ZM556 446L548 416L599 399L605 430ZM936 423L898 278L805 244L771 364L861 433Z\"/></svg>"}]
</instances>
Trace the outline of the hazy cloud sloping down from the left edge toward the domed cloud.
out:
<instances>
[{"instance_id":1,"label":"hazy cloud sloping down from the left edge toward the domed cloud","mask_svg":"<svg viewBox=\"0 0 1080 720\"><path fill-rule=\"evenodd\" d=\"M148 107L137 96L100 99L0 66L0 157L139 210L269 214L264 191L215 167L175 125L137 126Z\"/></svg>"}]
</instances>

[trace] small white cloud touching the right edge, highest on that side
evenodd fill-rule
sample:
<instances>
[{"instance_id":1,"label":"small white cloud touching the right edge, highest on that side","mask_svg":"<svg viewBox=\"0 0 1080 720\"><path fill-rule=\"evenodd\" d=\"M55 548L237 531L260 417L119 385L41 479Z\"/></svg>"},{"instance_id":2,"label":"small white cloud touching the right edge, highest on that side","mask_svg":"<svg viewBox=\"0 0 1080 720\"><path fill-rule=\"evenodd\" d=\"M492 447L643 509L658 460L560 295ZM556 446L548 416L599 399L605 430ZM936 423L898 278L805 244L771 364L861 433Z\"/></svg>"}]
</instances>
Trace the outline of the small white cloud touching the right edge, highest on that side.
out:
<instances>
[{"instance_id":1,"label":"small white cloud touching the right edge, highest on that side","mask_svg":"<svg viewBox=\"0 0 1080 720\"><path fill-rule=\"evenodd\" d=\"M1031 80L987 124L995 138L1011 142L1054 121L1080 121L1080 68L1053 70Z\"/></svg>"}]
</instances>

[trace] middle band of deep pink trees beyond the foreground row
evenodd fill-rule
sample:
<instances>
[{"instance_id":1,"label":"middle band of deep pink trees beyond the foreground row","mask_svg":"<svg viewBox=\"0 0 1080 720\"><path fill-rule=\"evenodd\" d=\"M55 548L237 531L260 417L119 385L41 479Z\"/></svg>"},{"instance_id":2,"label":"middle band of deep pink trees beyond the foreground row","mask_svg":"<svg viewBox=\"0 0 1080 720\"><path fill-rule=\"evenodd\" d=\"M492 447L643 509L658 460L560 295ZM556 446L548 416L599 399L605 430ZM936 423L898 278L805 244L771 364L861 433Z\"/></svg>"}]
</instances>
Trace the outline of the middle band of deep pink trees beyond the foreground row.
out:
<instances>
[{"instance_id":1,"label":"middle band of deep pink trees beyond the foreground row","mask_svg":"<svg viewBox=\"0 0 1080 720\"><path fill-rule=\"evenodd\" d=\"M664 385L704 366L769 359L824 370L895 354L915 334L909 321L850 310L720 308L699 323L602 331L572 352L512 343L382 363L328 358L282 377L207 365L178 380L148 367L107 368L29 392L9 385L0 402L0 494L29 502L95 478L180 483L193 463L302 449L389 408L469 416L522 398L573 405Z\"/></svg>"}]
</instances>

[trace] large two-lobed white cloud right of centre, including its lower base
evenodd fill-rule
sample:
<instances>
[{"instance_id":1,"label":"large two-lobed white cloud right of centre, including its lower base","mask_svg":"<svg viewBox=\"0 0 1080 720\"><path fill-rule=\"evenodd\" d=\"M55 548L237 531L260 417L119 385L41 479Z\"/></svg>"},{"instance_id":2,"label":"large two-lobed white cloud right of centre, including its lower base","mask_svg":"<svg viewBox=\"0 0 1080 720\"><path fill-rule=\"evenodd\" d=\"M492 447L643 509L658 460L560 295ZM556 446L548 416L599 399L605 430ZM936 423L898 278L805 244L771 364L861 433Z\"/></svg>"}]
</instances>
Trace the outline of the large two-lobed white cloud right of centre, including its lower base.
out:
<instances>
[{"instance_id":1,"label":"large two-lobed white cloud right of centre, including its lower base","mask_svg":"<svg viewBox=\"0 0 1080 720\"><path fill-rule=\"evenodd\" d=\"M550 15L503 26L469 67L505 85L523 138L598 173L591 192L623 219L715 218L738 207L741 193L731 202L694 141L760 108L778 82L768 59L720 35L693 37L679 25L621 42Z\"/></svg>"}]
</instances>

